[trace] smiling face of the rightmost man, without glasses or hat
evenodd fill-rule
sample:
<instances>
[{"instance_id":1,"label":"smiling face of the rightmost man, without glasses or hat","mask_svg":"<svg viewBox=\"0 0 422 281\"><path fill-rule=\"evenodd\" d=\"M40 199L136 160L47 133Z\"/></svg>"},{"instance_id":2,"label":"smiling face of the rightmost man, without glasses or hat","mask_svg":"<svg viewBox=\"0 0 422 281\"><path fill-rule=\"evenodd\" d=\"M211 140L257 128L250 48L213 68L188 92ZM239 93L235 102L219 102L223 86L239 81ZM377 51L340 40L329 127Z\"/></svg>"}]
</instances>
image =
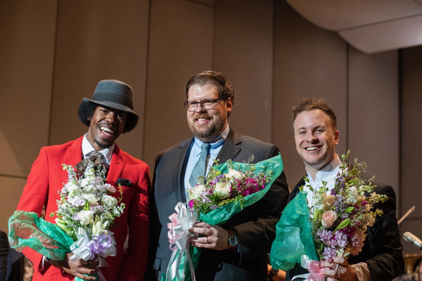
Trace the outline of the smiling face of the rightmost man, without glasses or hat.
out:
<instances>
[{"instance_id":1,"label":"smiling face of the rightmost man, without glasses or hat","mask_svg":"<svg viewBox=\"0 0 422 281\"><path fill-rule=\"evenodd\" d=\"M330 117L324 111L302 111L293 123L293 130L296 150L311 175L333 161L338 131L334 131Z\"/></svg>"}]
</instances>

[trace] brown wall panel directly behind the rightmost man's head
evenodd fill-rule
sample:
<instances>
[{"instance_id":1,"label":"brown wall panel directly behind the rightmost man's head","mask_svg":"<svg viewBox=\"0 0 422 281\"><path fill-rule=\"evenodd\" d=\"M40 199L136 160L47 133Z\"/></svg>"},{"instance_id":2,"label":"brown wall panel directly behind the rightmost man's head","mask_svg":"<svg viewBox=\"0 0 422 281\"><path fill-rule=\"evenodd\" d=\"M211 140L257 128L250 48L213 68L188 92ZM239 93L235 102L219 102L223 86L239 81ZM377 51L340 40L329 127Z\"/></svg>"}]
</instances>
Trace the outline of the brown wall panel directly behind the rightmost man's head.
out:
<instances>
[{"instance_id":1,"label":"brown wall panel directly behind the rightmost man's head","mask_svg":"<svg viewBox=\"0 0 422 281\"><path fill-rule=\"evenodd\" d=\"M307 22L284 1L276 1L275 17L273 143L281 151L292 189L306 173L291 122L291 108L302 97L328 100L340 131L336 152L346 150L346 43Z\"/></svg>"}]
</instances>

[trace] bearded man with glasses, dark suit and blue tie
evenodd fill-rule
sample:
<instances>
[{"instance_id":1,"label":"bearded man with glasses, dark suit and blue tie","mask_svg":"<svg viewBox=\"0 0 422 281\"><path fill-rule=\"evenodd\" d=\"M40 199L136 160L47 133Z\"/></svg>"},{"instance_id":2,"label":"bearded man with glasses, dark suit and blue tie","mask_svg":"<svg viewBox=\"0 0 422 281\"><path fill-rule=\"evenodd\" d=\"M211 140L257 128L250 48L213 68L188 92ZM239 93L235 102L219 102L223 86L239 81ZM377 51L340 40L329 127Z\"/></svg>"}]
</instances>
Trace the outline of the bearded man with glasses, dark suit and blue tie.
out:
<instances>
[{"instance_id":1,"label":"bearded man with glasses, dark suit and blue tie","mask_svg":"<svg viewBox=\"0 0 422 281\"><path fill-rule=\"evenodd\" d=\"M222 73L206 71L185 86L187 122L194 137L157 155L151 188L149 275L161 280L172 251L167 237L168 216L178 202L186 202L188 186L199 174L206 175L214 159L242 162L254 154L254 162L278 155L279 149L260 140L239 135L227 124L234 92ZM199 173L198 173L199 171ZM188 184L189 183L189 184ZM289 190L281 173L268 193L222 225L197 222L191 238L203 248L195 270L197 280L268 280L267 253L275 238L275 225L286 205Z\"/></svg>"}]
</instances>

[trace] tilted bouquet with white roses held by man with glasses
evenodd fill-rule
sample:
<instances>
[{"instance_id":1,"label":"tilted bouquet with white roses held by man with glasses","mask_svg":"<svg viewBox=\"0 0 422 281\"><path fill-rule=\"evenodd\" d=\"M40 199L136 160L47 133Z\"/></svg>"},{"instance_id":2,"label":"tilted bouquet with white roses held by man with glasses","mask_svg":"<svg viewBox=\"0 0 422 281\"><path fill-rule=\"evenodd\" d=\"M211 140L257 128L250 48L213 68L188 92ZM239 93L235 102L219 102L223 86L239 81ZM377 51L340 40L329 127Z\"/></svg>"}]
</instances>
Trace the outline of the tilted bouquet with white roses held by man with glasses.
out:
<instances>
[{"instance_id":1,"label":"tilted bouquet with white roses held by man with glasses","mask_svg":"<svg viewBox=\"0 0 422 281\"><path fill-rule=\"evenodd\" d=\"M189 229L197 220L207 224L224 224L235 213L260 200L271 184L281 174L281 156L252 164L228 160L224 164L215 161L206 177L199 176L198 184L189 188L189 203L178 203L169 219L168 237L173 255L167 273L162 280L195 280L200 248L187 242L192 235ZM176 245L172 248L173 245ZM190 276L186 272L190 271Z\"/></svg>"}]
</instances>

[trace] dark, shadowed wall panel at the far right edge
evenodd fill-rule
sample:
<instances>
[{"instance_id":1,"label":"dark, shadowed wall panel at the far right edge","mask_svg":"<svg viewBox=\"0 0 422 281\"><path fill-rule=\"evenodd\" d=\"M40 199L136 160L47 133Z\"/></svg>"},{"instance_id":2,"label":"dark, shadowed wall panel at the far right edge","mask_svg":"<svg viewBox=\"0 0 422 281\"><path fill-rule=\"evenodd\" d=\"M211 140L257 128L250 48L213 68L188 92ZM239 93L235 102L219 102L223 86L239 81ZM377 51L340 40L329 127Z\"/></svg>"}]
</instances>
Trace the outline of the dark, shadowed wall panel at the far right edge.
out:
<instances>
[{"instance_id":1,"label":"dark, shadowed wall panel at the far right edge","mask_svg":"<svg viewBox=\"0 0 422 281\"><path fill-rule=\"evenodd\" d=\"M401 58L401 169L400 192L401 213L411 206L416 210L409 218L422 219L422 192L420 180L420 159L422 159L422 46L403 49ZM420 223L419 223L420 224ZM408 231L403 225L403 232ZM422 229L413 233L422 237Z\"/></svg>"}]
</instances>

